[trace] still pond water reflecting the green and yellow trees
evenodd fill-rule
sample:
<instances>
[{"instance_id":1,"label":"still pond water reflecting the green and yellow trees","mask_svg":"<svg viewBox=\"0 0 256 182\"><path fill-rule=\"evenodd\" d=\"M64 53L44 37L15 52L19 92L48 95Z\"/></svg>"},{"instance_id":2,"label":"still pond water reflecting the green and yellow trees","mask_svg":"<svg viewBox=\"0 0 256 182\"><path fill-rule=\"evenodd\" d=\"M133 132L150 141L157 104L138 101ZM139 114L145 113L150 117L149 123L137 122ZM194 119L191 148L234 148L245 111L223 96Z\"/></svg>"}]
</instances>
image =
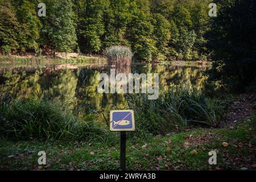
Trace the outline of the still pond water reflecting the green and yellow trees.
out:
<instances>
[{"instance_id":1,"label":"still pond water reflecting the green and yellow trees","mask_svg":"<svg viewBox=\"0 0 256 182\"><path fill-rule=\"evenodd\" d=\"M131 64L131 73L159 73L159 90L185 85L204 88L207 67L200 65ZM67 109L102 110L126 106L123 94L100 94L100 73L109 73L107 65L78 66L71 64L1 63L0 93L13 98L48 97L59 100Z\"/></svg>"}]
</instances>

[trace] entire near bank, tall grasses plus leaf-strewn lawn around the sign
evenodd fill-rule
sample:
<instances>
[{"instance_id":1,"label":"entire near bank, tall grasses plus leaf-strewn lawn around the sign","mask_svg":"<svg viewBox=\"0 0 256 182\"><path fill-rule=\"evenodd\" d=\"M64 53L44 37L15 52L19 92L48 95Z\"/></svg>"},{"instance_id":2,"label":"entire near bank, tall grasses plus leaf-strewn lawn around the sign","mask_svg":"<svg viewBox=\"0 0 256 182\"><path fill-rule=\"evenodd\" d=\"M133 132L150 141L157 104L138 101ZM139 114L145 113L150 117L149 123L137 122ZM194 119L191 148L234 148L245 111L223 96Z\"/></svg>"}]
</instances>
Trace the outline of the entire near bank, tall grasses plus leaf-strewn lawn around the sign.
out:
<instances>
[{"instance_id":1,"label":"entire near bank, tall grasses plus leaf-strewn lawn around the sign","mask_svg":"<svg viewBox=\"0 0 256 182\"><path fill-rule=\"evenodd\" d=\"M127 134L127 169L255 169L256 117L220 128L225 104L187 89L127 101L136 119L136 131ZM119 133L96 113L72 113L44 98L5 94L0 102L1 170L119 169ZM212 150L217 165L210 166ZM38 165L39 151L46 151L46 165Z\"/></svg>"}]
</instances>

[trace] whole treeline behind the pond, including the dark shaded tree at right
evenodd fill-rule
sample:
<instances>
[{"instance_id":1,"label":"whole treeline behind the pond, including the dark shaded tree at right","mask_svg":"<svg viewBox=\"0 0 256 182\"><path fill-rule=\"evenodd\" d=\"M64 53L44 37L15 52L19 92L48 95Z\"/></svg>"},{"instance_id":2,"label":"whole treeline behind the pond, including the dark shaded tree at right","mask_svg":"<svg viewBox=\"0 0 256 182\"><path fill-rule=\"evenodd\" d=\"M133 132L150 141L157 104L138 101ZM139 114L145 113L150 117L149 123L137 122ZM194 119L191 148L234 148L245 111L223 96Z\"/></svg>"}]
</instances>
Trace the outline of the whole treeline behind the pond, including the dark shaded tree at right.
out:
<instances>
[{"instance_id":1,"label":"whole treeline behind the pond, including the dark shaded tree at right","mask_svg":"<svg viewBox=\"0 0 256 182\"><path fill-rule=\"evenodd\" d=\"M6 53L101 54L128 46L137 60L212 60L210 79L230 87L255 80L255 3L251 0L0 1L0 49Z\"/></svg>"}]
</instances>

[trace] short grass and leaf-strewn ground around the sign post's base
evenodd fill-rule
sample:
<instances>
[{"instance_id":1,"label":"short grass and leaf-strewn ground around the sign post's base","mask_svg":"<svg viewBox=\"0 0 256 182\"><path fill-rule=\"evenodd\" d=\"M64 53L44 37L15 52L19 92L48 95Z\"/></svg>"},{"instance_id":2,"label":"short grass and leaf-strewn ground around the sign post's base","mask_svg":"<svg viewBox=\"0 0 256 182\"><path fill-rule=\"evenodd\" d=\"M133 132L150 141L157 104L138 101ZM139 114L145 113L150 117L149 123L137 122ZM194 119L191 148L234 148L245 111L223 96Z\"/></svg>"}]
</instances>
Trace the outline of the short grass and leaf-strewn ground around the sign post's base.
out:
<instances>
[{"instance_id":1,"label":"short grass and leaf-strewn ground around the sign post's base","mask_svg":"<svg viewBox=\"0 0 256 182\"><path fill-rule=\"evenodd\" d=\"M225 125L147 139L127 138L128 170L256 170L255 94L241 94ZM46 151L46 165L38 152ZM210 165L216 151L217 165ZM0 140L0 170L118 170L119 143Z\"/></svg>"}]
</instances>

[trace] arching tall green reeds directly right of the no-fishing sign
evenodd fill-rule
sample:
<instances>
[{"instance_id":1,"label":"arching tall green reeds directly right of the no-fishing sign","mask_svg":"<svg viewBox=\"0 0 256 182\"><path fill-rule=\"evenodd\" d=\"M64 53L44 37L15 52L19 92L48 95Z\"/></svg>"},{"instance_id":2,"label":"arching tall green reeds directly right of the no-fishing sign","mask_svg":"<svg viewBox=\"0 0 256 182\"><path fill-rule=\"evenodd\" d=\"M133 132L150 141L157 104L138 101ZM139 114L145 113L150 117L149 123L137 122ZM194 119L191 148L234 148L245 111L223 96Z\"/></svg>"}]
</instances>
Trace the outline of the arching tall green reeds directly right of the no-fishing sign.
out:
<instances>
[{"instance_id":1,"label":"arching tall green reeds directly right of the no-fishing sign","mask_svg":"<svg viewBox=\"0 0 256 182\"><path fill-rule=\"evenodd\" d=\"M191 124L218 127L226 112L225 104L184 88L163 92L157 100L148 100L146 94L129 94L127 100L137 129L153 135L182 131Z\"/></svg>"}]
</instances>

